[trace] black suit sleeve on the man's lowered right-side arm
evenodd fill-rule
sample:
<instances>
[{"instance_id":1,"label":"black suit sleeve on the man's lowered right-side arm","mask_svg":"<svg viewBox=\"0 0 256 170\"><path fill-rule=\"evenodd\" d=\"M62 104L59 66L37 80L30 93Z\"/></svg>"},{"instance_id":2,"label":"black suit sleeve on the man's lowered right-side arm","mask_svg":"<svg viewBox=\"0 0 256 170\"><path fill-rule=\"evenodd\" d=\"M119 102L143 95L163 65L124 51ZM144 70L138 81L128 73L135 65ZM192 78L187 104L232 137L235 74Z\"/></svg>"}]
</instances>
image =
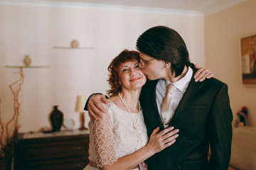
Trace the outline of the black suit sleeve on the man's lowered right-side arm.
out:
<instances>
[{"instance_id":1,"label":"black suit sleeve on the man's lowered right-side arm","mask_svg":"<svg viewBox=\"0 0 256 170\"><path fill-rule=\"evenodd\" d=\"M211 157L208 169L227 170L230 162L233 113L230 108L228 86L224 84L213 102L210 112L209 140Z\"/></svg>"}]
</instances>

